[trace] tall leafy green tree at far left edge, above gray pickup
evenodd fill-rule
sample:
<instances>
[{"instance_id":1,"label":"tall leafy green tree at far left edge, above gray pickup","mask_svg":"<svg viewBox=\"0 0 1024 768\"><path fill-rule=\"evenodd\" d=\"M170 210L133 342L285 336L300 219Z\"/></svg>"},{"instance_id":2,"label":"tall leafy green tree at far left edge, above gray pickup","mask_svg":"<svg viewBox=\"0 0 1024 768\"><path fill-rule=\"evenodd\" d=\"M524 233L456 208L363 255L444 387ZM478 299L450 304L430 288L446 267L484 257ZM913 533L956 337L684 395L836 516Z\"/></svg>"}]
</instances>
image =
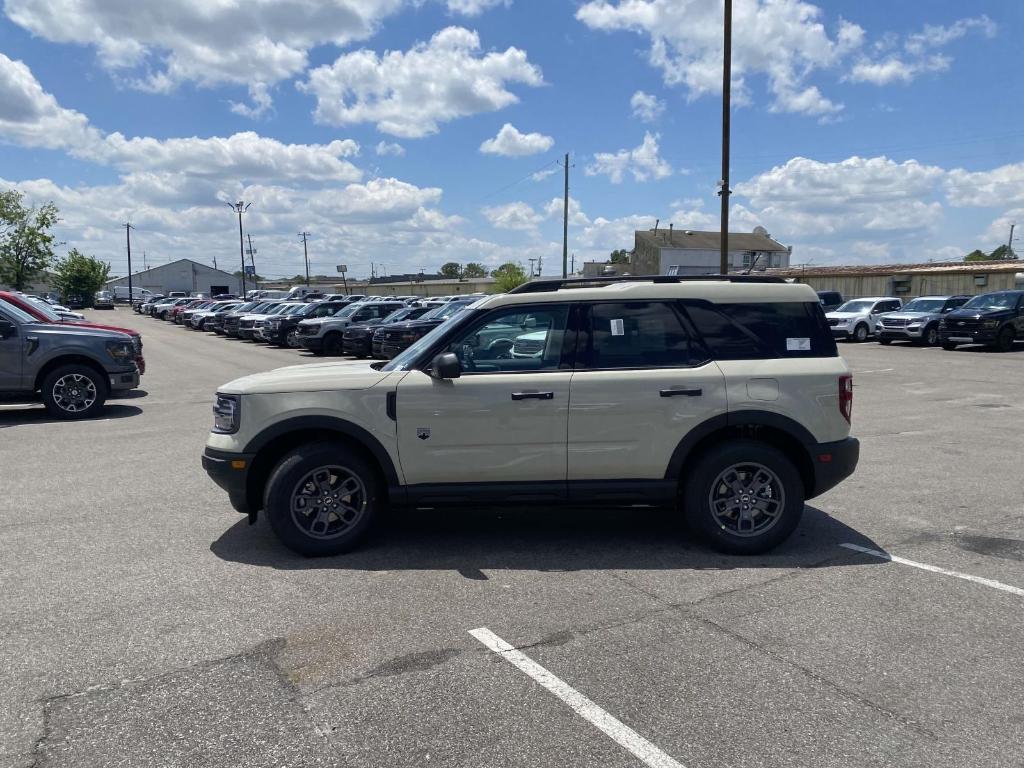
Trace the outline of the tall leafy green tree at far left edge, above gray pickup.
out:
<instances>
[{"instance_id":1,"label":"tall leafy green tree at far left edge, above gray pickup","mask_svg":"<svg viewBox=\"0 0 1024 768\"><path fill-rule=\"evenodd\" d=\"M24 291L53 261L53 203L28 208L16 189L0 193L0 283Z\"/></svg>"}]
</instances>

